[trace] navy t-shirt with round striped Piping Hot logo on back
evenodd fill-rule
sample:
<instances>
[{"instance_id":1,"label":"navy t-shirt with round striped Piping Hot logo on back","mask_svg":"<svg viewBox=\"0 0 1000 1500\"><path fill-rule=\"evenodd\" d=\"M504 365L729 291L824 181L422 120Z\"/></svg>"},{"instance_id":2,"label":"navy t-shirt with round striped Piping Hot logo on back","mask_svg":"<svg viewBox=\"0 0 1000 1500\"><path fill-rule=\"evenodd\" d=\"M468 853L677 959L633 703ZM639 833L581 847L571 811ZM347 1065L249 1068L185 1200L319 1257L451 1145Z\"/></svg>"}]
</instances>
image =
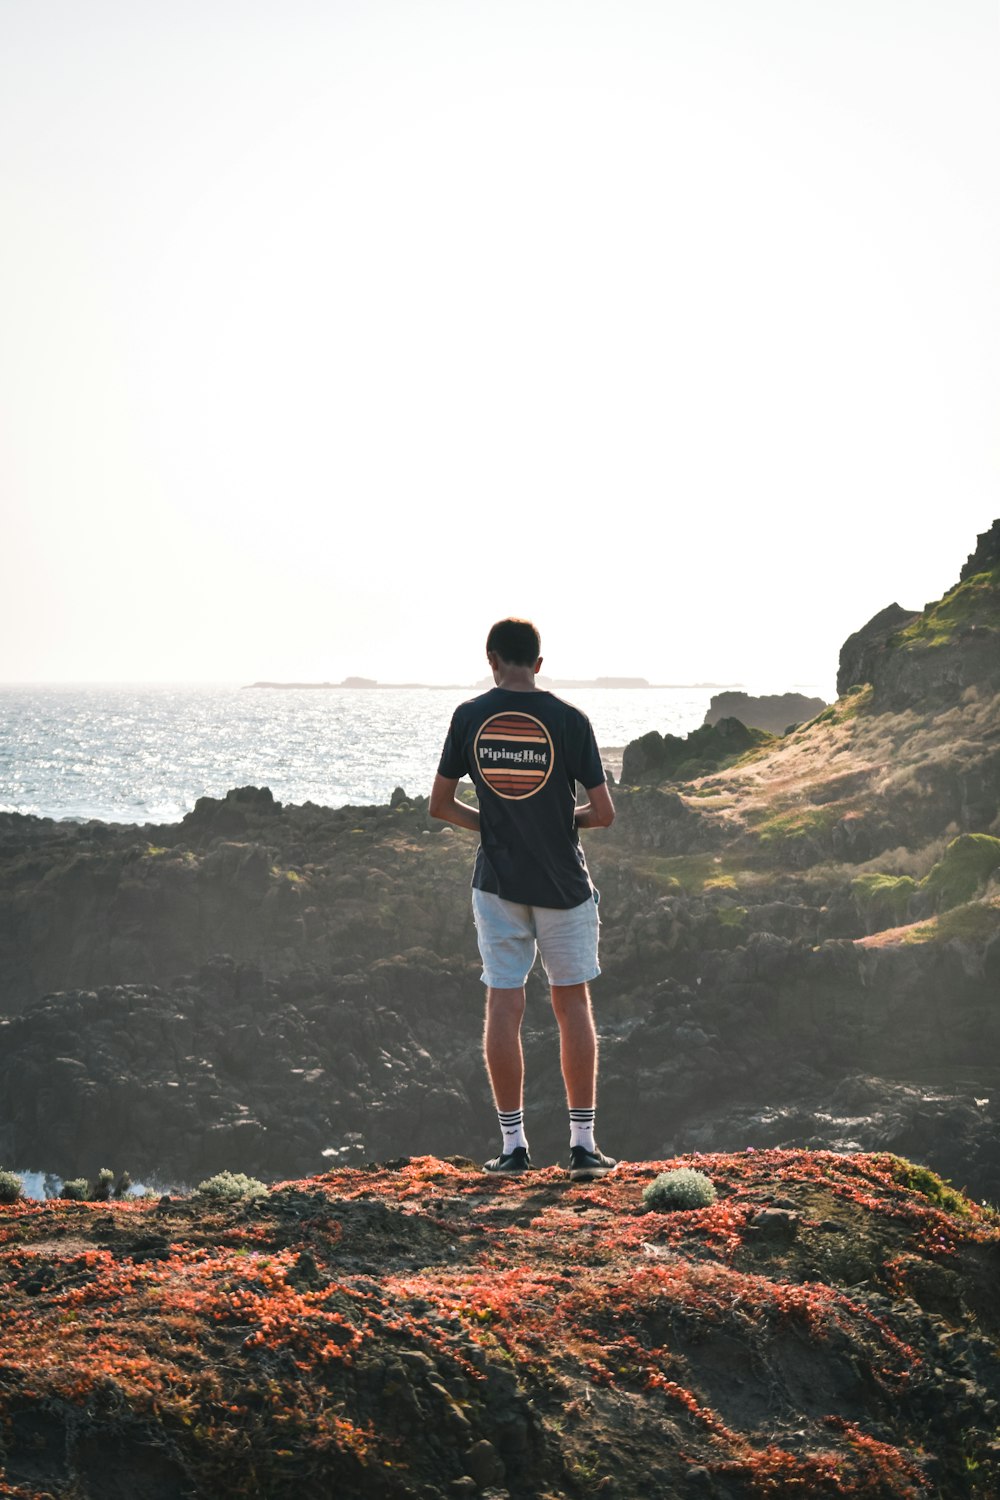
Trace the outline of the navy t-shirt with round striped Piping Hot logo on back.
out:
<instances>
[{"instance_id":1,"label":"navy t-shirt with round striped Piping Hot logo on back","mask_svg":"<svg viewBox=\"0 0 1000 1500\"><path fill-rule=\"evenodd\" d=\"M456 708L438 771L469 776L478 794L477 890L561 909L591 898L576 783L606 776L586 714L555 693L490 688Z\"/></svg>"}]
</instances>

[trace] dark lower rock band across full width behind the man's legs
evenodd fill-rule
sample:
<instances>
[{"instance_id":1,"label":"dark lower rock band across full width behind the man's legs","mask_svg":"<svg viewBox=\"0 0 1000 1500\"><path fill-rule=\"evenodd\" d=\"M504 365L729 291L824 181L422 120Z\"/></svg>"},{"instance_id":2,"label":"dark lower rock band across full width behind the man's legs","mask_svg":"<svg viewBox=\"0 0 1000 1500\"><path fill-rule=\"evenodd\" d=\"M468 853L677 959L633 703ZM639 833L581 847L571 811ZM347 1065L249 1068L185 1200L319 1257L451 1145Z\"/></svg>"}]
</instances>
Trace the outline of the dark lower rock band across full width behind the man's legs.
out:
<instances>
[{"instance_id":1,"label":"dark lower rock band across full width behind the man's legs","mask_svg":"<svg viewBox=\"0 0 1000 1500\"><path fill-rule=\"evenodd\" d=\"M771 1144L741 1124L762 1086L772 1107L805 1119L846 1076L927 1076L933 1058L937 1094L958 1108L979 1070L972 1092L987 1107L961 1146L955 1132L928 1137L922 1160L1000 1197L1000 1100L984 1066L1000 1054L1000 936L868 950L825 939L817 908L772 903L759 930L748 918L724 891L678 891L636 903L609 940L597 999L609 1146L630 1160L672 1152L706 1112L712 1148ZM217 960L169 986L48 996L1 1028L0 1162L192 1182L223 1167L288 1176L417 1142L484 1156L493 1113L478 993L471 952L459 963L411 951L339 978L268 978ZM532 1149L558 1161L565 1107L540 978L525 1047ZM960 1077L958 1090L946 1083ZM904 1125L895 1140L885 1122L868 1132L856 1122L855 1140L904 1149ZM783 1128L781 1143L805 1132Z\"/></svg>"}]
</instances>

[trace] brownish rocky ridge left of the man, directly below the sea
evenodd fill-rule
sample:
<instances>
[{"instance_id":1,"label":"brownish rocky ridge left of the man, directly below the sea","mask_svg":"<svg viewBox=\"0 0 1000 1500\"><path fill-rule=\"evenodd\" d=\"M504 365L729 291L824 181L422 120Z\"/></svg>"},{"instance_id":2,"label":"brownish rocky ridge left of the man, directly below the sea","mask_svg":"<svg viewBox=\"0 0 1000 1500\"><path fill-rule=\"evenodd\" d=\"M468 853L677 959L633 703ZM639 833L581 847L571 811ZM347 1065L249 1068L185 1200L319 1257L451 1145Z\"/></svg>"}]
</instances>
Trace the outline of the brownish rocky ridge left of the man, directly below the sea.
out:
<instances>
[{"instance_id":1,"label":"brownish rocky ridge left of the man, directly below the sea","mask_svg":"<svg viewBox=\"0 0 1000 1500\"><path fill-rule=\"evenodd\" d=\"M145 828L0 814L0 1011L169 982L220 952L270 975L451 952L472 933L468 880L468 844L405 795L331 810L240 788Z\"/></svg>"}]
</instances>

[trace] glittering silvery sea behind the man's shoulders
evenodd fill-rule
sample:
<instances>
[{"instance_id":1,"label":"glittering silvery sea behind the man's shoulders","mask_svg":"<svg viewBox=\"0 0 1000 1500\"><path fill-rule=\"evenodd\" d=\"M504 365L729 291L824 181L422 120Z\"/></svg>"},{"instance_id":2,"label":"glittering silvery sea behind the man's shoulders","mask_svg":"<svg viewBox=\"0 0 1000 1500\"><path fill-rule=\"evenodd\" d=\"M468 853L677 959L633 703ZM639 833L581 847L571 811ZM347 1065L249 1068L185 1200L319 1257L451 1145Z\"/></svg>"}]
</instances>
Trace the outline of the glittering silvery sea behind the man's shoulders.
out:
<instances>
[{"instance_id":1,"label":"glittering silvery sea behind the man's shoulders","mask_svg":"<svg viewBox=\"0 0 1000 1500\"><path fill-rule=\"evenodd\" d=\"M270 786L282 802L426 795L451 710L475 687L0 687L0 812L177 822L199 796ZM612 766L630 740L697 729L711 687L558 688ZM615 753L618 752L618 754Z\"/></svg>"}]
</instances>

